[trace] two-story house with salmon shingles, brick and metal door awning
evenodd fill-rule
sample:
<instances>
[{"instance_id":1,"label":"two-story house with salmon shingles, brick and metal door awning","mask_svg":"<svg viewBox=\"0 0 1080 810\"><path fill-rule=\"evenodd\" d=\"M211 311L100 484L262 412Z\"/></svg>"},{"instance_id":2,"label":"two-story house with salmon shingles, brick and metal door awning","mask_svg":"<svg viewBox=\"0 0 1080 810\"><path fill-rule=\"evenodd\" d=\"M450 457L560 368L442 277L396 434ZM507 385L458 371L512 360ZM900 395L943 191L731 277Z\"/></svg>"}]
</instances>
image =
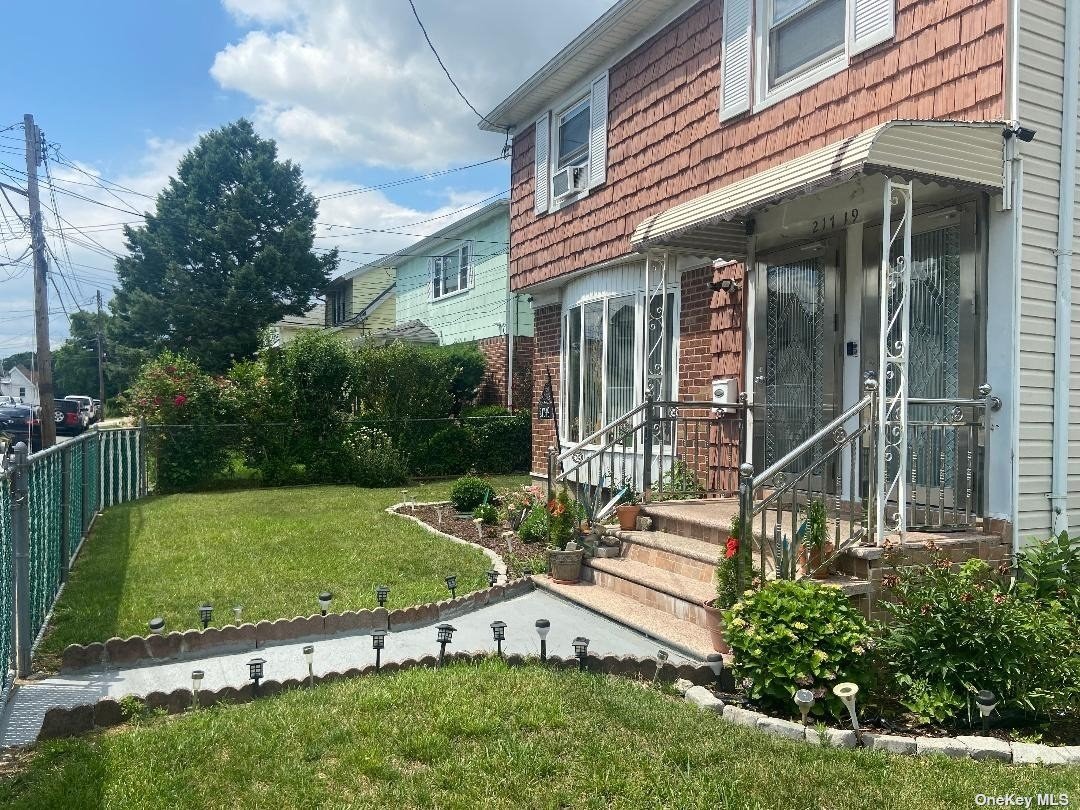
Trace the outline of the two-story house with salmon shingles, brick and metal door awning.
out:
<instances>
[{"instance_id":1,"label":"two-story house with salmon shingles, brick and metal door awning","mask_svg":"<svg viewBox=\"0 0 1080 810\"><path fill-rule=\"evenodd\" d=\"M780 540L761 501L793 481L864 540L1080 530L1078 16L616 2L482 124L513 138L511 287L558 403L534 471L555 446L564 477L633 456L656 484L700 445L701 489L752 464Z\"/></svg>"}]
</instances>

